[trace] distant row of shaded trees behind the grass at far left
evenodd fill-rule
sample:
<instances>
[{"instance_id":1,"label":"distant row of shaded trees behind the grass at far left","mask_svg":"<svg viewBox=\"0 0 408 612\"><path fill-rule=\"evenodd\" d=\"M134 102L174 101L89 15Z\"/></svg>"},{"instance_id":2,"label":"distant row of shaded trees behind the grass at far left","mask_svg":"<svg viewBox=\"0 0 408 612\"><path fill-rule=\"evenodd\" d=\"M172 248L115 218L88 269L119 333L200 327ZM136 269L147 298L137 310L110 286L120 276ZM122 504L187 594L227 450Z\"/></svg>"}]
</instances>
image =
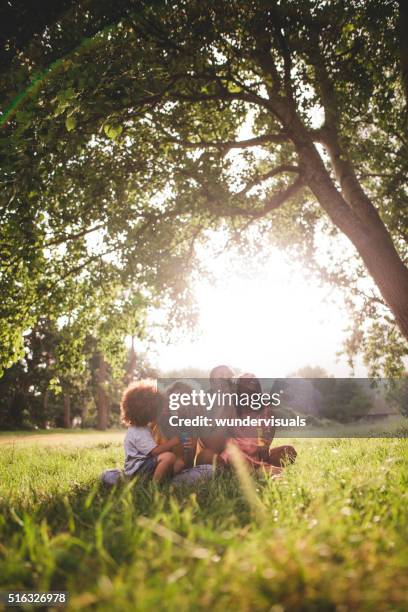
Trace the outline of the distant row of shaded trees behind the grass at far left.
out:
<instances>
[{"instance_id":1,"label":"distant row of shaded trees behind the grass at far left","mask_svg":"<svg viewBox=\"0 0 408 612\"><path fill-rule=\"evenodd\" d=\"M123 386L157 372L132 345L112 367L95 337L82 346L82 367L64 367L61 330L42 317L24 338L24 358L0 378L0 429L119 425Z\"/></svg>"}]
</instances>

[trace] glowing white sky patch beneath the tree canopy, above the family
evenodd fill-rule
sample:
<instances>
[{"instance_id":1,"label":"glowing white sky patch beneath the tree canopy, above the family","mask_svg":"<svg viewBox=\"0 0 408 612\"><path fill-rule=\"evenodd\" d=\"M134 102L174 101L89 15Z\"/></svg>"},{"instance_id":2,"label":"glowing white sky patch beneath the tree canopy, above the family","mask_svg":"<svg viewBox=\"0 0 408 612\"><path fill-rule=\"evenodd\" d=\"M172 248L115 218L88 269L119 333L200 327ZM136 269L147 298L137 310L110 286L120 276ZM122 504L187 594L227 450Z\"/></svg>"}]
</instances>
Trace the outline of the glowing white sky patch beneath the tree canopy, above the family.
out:
<instances>
[{"instance_id":1,"label":"glowing white sky patch beneath the tree canopy, above the family","mask_svg":"<svg viewBox=\"0 0 408 612\"><path fill-rule=\"evenodd\" d=\"M262 264L253 262L250 274L241 266L238 271L227 254L209 255L206 264L215 278L196 283L195 337L186 332L183 340L158 341L149 359L163 371L226 363L274 378L319 365L350 376L346 358L336 356L349 323L340 294L308 281L300 264L289 263L277 249L270 253ZM365 376L364 366L357 364L355 375Z\"/></svg>"}]
</instances>

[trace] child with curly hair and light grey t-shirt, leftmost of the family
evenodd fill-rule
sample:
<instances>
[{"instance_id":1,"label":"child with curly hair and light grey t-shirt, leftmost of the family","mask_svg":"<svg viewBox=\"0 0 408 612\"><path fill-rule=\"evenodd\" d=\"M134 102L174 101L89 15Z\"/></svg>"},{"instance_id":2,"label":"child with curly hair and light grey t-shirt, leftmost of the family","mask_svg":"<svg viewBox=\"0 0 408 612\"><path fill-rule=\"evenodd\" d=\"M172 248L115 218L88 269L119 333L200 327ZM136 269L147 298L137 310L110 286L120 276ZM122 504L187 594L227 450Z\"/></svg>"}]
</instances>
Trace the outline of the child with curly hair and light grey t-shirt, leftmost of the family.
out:
<instances>
[{"instance_id":1,"label":"child with curly hair and light grey t-shirt, leftmost of the family","mask_svg":"<svg viewBox=\"0 0 408 612\"><path fill-rule=\"evenodd\" d=\"M157 415L164 402L153 380L131 384L124 392L120 411L122 422L128 427L125 436L125 476L144 476L154 482L178 474L184 461L174 449L180 438L173 436L162 444L154 438Z\"/></svg>"}]
</instances>

